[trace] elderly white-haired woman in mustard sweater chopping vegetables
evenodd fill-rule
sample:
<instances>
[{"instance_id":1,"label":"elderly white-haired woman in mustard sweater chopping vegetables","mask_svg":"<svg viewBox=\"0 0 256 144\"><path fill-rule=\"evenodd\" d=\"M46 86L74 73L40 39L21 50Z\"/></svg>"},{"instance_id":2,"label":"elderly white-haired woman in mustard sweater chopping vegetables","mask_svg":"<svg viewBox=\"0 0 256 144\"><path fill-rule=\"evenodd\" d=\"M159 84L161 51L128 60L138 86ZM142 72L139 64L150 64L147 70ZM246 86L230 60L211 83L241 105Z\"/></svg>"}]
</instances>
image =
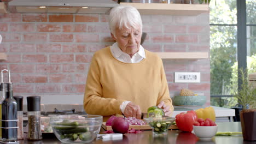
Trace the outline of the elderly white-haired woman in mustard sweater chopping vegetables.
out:
<instances>
[{"instance_id":1,"label":"elderly white-haired woman in mustard sweater chopping vegetables","mask_svg":"<svg viewBox=\"0 0 256 144\"><path fill-rule=\"evenodd\" d=\"M142 20L136 8L118 6L109 14L112 46L92 57L84 94L87 113L141 118L157 105L165 116L173 111L161 59L141 44Z\"/></svg>"}]
</instances>

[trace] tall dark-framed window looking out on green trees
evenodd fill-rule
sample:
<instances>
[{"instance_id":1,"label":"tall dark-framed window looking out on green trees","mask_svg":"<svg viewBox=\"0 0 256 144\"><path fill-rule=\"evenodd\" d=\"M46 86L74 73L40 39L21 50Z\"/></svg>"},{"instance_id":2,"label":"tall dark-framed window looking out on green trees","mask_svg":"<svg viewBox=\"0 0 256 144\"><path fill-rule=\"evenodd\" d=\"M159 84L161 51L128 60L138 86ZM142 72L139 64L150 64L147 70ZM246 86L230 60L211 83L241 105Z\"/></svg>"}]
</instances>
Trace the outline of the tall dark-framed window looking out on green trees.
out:
<instances>
[{"instance_id":1,"label":"tall dark-framed window looking out on green trees","mask_svg":"<svg viewBox=\"0 0 256 144\"><path fill-rule=\"evenodd\" d=\"M255 11L255 0L210 3L211 105L235 106L237 68L256 72Z\"/></svg>"}]
</instances>

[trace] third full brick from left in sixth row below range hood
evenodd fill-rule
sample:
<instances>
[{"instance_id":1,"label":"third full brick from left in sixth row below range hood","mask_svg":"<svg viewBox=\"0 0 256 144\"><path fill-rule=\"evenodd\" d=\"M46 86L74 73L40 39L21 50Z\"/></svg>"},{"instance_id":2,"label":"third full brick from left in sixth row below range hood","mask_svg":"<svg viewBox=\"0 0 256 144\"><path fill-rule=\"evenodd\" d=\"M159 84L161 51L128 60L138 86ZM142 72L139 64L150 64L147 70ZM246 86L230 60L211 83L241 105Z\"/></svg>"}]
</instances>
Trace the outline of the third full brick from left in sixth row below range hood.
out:
<instances>
[{"instance_id":1,"label":"third full brick from left in sixth row below range hood","mask_svg":"<svg viewBox=\"0 0 256 144\"><path fill-rule=\"evenodd\" d=\"M62 72L64 73L85 73L87 64L62 64Z\"/></svg>"}]
</instances>

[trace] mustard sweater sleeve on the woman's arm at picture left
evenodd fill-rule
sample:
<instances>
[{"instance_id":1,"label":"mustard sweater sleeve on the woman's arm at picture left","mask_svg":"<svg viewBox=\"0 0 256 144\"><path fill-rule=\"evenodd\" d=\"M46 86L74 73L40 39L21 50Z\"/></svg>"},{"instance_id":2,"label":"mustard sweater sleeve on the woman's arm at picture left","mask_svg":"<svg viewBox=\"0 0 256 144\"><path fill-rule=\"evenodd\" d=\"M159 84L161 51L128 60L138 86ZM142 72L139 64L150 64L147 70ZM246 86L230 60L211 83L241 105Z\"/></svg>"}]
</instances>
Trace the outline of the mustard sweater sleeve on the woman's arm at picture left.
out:
<instances>
[{"instance_id":1,"label":"mustard sweater sleeve on the woman's arm at picture left","mask_svg":"<svg viewBox=\"0 0 256 144\"><path fill-rule=\"evenodd\" d=\"M91 115L109 116L118 113L122 115L119 106L125 100L102 97L102 85L100 82L100 65L97 55L92 57L90 69L85 86L84 110Z\"/></svg>"}]
</instances>

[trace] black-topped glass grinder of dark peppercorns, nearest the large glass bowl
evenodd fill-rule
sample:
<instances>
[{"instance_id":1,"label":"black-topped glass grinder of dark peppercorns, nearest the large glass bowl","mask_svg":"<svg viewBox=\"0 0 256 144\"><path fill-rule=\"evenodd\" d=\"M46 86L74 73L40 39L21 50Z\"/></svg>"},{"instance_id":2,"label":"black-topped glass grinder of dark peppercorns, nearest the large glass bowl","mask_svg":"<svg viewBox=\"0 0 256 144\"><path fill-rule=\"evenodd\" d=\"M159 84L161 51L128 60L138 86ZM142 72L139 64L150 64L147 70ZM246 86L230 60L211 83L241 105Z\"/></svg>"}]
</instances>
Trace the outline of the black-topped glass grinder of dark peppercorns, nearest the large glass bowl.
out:
<instances>
[{"instance_id":1,"label":"black-topped glass grinder of dark peppercorns, nearest the large glass bowl","mask_svg":"<svg viewBox=\"0 0 256 144\"><path fill-rule=\"evenodd\" d=\"M28 140L42 140L40 96L27 97Z\"/></svg>"}]
</instances>

